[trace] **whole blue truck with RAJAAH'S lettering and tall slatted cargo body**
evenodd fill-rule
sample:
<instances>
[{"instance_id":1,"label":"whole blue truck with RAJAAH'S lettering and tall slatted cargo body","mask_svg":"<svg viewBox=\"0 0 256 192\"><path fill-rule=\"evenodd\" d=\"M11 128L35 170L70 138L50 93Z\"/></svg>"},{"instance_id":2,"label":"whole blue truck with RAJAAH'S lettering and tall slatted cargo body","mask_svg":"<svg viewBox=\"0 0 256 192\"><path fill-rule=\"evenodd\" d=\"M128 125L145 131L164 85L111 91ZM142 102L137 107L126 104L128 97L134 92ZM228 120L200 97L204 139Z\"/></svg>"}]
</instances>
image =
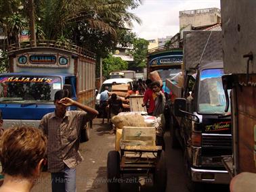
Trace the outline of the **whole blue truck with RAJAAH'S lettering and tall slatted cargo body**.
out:
<instances>
[{"instance_id":1,"label":"whole blue truck with RAJAAH'S lettering and tall slatted cargo body","mask_svg":"<svg viewBox=\"0 0 256 192\"><path fill-rule=\"evenodd\" d=\"M9 71L0 75L0 109L5 128L37 127L54 112L54 95L68 89L74 100L95 107L95 55L81 47L38 41L9 50ZM68 110L76 110L68 107Z\"/></svg>"}]
</instances>

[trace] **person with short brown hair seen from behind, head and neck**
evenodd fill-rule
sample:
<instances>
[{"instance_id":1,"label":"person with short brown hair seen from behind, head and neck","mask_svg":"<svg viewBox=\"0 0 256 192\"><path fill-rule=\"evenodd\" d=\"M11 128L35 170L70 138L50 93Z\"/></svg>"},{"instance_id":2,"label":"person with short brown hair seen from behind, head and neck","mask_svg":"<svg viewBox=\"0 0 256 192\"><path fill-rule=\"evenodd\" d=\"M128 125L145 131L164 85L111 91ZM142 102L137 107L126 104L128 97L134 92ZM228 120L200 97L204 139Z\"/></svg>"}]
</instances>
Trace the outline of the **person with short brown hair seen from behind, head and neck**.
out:
<instances>
[{"instance_id":1,"label":"person with short brown hair seen from behind, head and neck","mask_svg":"<svg viewBox=\"0 0 256 192\"><path fill-rule=\"evenodd\" d=\"M29 192L46 164L47 139L38 128L7 128L0 139L0 192Z\"/></svg>"}]
</instances>

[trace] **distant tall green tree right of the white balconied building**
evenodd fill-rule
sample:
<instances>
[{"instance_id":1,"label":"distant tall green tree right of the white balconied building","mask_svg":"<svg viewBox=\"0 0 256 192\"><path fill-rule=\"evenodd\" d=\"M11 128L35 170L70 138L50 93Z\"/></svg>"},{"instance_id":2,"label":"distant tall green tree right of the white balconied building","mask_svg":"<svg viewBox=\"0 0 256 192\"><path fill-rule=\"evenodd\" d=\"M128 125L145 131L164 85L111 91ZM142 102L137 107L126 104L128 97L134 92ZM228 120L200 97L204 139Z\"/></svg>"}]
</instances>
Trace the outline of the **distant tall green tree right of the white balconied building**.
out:
<instances>
[{"instance_id":1,"label":"distant tall green tree right of the white balconied building","mask_svg":"<svg viewBox=\"0 0 256 192\"><path fill-rule=\"evenodd\" d=\"M146 58L148 53L148 41L146 39L135 39L133 41L133 62L130 65L131 70L142 70L146 68Z\"/></svg>"}]
</instances>

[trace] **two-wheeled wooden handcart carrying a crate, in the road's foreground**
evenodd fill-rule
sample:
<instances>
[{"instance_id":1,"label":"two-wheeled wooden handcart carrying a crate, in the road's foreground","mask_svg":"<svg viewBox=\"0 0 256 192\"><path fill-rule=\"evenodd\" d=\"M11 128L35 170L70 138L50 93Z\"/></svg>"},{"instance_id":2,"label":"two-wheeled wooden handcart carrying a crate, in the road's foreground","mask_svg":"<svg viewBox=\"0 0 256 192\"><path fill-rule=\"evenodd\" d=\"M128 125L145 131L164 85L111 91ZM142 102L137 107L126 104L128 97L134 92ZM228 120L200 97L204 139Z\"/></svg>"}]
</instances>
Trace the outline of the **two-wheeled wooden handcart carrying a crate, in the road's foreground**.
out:
<instances>
[{"instance_id":1,"label":"two-wheeled wooden handcart carrying a crate, in the road's foreground","mask_svg":"<svg viewBox=\"0 0 256 192\"><path fill-rule=\"evenodd\" d=\"M144 174L153 179L156 191L165 191L167 169L165 153L156 146L154 127L125 126L119 151L108 153L108 191L120 191L124 174Z\"/></svg>"}]
</instances>

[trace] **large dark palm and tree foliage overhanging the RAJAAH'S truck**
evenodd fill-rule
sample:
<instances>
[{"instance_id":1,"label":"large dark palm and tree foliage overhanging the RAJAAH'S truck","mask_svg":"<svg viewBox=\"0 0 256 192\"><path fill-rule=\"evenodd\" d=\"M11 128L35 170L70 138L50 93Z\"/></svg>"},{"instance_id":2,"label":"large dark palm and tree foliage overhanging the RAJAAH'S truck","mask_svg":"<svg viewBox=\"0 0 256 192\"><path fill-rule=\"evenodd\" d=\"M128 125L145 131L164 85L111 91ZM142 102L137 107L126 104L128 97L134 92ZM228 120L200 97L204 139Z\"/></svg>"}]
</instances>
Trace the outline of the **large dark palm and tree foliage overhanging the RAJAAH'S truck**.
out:
<instances>
[{"instance_id":1,"label":"large dark palm and tree foliage overhanging the RAJAAH'S truck","mask_svg":"<svg viewBox=\"0 0 256 192\"><path fill-rule=\"evenodd\" d=\"M0 2L0 25L6 26L6 34L12 34L8 38L12 43L17 43L16 34L24 28L29 30L29 2ZM98 57L106 57L118 44L131 45L134 34L127 26L131 28L133 20L139 24L141 21L129 10L140 3L140 0L35 0L37 39L74 43ZM15 14L22 19L15 23L17 27L10 33L13 27L7 20Z\"/></svg>"}]
</instances>

